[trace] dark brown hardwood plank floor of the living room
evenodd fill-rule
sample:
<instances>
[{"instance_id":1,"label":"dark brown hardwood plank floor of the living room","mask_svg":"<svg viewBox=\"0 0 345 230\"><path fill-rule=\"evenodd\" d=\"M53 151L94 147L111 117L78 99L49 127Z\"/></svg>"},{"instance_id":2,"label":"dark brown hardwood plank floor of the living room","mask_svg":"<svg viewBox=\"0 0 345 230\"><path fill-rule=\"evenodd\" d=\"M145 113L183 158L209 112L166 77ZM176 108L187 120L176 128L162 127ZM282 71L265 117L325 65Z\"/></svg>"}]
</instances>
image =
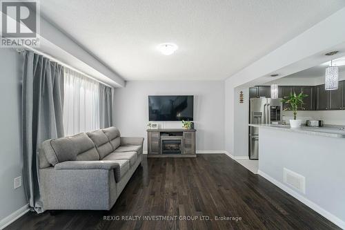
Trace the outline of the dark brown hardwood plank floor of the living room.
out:
<instances>
[{"instance_id":1,"label":"dark brown hardwood plank floor of the living room","mask_svg":"<svg viewBox=\"0 0 345 230\"><path fill-rule=\"evenodd\" d=\"M339 229L224 154L145 157L142 165L110 211L28 213L6 229ZM156 220L121 220L155 215ZM179 220L188 216L198 219Z\"/></svg>"}]
</instances>

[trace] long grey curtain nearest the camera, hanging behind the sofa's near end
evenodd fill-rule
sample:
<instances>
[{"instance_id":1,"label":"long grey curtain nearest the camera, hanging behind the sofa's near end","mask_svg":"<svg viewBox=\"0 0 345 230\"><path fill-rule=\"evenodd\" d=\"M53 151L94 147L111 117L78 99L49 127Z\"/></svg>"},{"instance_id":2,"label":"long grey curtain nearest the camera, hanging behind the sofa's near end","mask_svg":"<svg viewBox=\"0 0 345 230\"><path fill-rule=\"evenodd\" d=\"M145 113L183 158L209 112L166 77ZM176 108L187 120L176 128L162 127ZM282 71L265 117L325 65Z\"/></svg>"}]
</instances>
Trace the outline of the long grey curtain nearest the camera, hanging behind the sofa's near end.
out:
<instances>
[{"instance_id":1,"label":"long grey curtain nearest the camera, hanging behind the sofa's near end","mask_svg":"<svg viewBox=\"0 0 345 230\"><path fill-rule=\"evenodd\" d=\"M26 50L22 90L23 185L40 213L38 150L44 140L63 137L63 66Z\"/></svg>"}]
</instances>

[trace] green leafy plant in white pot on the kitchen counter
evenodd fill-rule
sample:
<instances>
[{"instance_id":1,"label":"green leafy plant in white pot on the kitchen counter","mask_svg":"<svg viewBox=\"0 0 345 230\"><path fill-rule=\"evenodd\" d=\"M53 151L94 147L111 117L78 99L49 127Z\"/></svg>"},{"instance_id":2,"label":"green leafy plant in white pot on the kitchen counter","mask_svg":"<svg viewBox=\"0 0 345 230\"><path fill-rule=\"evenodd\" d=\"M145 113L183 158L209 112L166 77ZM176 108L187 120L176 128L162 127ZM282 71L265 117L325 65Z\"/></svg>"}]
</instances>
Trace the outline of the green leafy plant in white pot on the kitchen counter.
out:
<instances>
[{"instance_id":1,"label":"green leafy plant in white pot on the kitchen counter","mask_svg":"<svg viewBox=\"0 0 345 230\"><path fill-rule=\"evenodd\" d=\"M285 108L284 111L286 110L293 111L293 119L290 119L291 128L299 128L302 124L302 119L297 119L297 109L298 108L304 109L303 108L304 97L308 97L308 95L304 94L303 92L297 95L295 92L293 92L293 93L290 93L290 96L284 97L284 99L282 99L283 103L288 104L288 108Z\"/></svg>"}]
</instances>

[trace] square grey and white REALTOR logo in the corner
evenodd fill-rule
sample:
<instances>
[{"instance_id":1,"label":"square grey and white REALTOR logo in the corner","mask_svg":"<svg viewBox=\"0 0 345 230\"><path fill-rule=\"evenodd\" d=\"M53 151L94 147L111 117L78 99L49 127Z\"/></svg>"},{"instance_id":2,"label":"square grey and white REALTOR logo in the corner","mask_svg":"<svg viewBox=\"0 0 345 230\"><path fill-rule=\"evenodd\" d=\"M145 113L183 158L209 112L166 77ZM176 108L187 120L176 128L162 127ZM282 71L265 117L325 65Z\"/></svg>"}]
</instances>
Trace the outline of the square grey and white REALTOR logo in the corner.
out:
<instances>
[{"instance_id":1,"label":"square grey and white REALTOR logo in the corner","mask_svg":"<svg viewBox=\"0 0 345 230\"><path fill-rule=\"evenodd\" d=\"M1 0L1 47L39 46L39 3Z\"/></svg>"}]
</instances>

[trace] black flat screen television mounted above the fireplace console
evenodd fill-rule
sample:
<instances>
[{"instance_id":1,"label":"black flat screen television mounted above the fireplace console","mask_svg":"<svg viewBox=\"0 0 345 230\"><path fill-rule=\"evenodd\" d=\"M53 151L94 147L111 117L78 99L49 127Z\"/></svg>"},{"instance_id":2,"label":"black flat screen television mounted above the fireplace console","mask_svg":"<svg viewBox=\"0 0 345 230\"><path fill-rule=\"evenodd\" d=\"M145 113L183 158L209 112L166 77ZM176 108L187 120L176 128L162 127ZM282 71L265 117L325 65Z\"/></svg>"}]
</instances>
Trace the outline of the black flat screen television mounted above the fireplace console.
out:
<instances>
[{"instance_id":1,"label":"black flat screen television mounted above the fireplace console","mask_svg":"<svg viewBox=\"0 0 345 230\"><path fill-rule=\"evenodd\" d=\"M148 96L148 120L150 122L193 121L193 95Z\"/></svg>"}]
</instances>

